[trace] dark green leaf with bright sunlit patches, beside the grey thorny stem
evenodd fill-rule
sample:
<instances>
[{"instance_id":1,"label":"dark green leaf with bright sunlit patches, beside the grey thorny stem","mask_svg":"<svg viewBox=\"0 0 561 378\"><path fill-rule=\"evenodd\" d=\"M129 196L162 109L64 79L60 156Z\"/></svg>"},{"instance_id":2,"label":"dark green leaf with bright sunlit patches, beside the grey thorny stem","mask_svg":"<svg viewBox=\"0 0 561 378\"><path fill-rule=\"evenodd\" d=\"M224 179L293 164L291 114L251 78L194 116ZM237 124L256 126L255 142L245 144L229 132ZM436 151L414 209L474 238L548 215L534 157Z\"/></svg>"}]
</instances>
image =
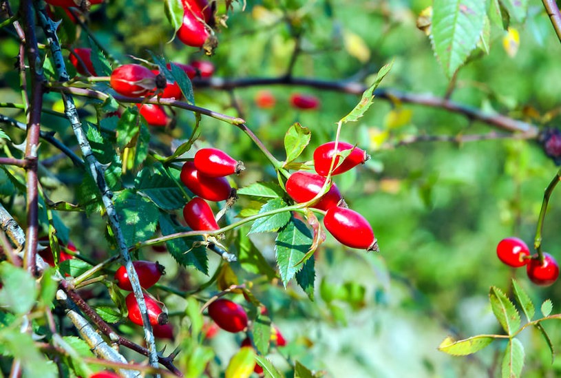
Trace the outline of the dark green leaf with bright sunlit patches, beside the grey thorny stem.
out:
<instances>
[{"instance_id":1,"label":"dark green leaf with bright sunlit patches, beside the grey thorny stem","mask_svg":"<svg viewBox=\"0 0 561 378\"><path fill-rule=\"evenodd\" d=\"M115 192L113 200L127 246L148 240L154 235L160 211L148 198L125 189Z\"/></svg>"}]
</instances>

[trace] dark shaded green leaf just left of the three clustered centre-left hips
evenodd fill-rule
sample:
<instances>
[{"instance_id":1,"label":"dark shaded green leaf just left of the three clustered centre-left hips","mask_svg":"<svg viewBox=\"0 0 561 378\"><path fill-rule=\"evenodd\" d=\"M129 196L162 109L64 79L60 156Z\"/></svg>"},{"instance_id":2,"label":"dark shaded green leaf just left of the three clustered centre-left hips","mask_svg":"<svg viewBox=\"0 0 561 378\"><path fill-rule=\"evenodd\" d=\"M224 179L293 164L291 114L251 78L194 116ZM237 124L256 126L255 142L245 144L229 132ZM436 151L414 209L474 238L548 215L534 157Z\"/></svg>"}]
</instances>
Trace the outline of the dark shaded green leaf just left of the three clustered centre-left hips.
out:
<instances>
[{"instance_id":1,"label":"dark shaded green leaf just left of the three clustered centre-left hips","mask_svg":"<svg viewBox=\"0 0 561 378\"><path fill-rule=\"evenodd\" d=\"M157 162L151 167L144 167L134 180L134 187L146 194L158 207L165 210L175 210L187 203L183 192L177 183Z\"/></svg>"}]
</instances>

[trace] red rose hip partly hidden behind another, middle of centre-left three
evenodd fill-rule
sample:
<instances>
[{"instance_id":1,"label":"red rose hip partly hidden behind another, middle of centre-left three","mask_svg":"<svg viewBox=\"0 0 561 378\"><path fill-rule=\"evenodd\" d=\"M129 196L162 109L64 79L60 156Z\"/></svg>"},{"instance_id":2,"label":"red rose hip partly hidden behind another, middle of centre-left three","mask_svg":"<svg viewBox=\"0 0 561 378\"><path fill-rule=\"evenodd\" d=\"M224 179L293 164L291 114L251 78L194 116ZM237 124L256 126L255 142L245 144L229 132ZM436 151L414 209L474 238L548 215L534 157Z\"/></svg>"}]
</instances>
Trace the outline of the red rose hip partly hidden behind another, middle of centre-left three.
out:
<instances>
[{"instance_id":1,"label":"red rose hip partly hidden behind another, middle of centre-left three","mask_svg":"<svg viewBox=\"0 0 561 378\"><path fill-rule=\"evenodd\" d=\"M180 175L183 184L195 195L209 201L223 201L229 198L232 188L223 177L209 177L201 174L193 162L185 162Z\"/></svg>"}]
</instances>

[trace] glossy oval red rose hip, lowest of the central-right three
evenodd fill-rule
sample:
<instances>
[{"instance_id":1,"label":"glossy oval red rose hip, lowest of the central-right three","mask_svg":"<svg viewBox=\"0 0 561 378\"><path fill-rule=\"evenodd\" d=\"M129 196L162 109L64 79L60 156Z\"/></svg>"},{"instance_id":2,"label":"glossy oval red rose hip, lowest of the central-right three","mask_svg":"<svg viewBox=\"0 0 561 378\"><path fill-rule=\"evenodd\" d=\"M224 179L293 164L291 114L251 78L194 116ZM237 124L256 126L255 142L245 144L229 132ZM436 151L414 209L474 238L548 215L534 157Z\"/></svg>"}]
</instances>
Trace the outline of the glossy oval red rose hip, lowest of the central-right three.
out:
<instances>
[{"instance_id":1,"label":"glossy oval red rose hip, lowest of the central-right three","mask_svg":"<svg viewBox=\"0 0 561 378\"><path fill-rule=\"evenodd\" d=\"M376 239L372 227L357 211L332 207L324 217L324 225L343 245L357 249L374 249Z\"/></svg>"}]
</instances>

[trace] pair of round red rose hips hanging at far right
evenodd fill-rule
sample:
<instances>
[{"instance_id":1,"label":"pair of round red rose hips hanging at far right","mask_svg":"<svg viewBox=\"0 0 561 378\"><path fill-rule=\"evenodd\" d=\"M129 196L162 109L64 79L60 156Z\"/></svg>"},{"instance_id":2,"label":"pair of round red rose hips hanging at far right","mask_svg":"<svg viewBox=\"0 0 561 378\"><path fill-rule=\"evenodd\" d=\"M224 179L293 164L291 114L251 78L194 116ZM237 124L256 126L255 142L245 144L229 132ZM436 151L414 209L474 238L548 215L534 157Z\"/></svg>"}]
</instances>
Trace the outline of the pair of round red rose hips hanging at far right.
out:
<instances>
[{"instance_id":1,"label":"pair of round red rose hips hanging at far right","mask_svg":"<svg viewBox=\"0 0 561 378\"><path fill-rule=\"evenodd\" d=\"M518 238L501 240L497 245L497 255L508 266L519 268L526 265L528 278L536 285L549 286L559 277L559 265L552 255L543 253L543 261L538 254L530 257L528 246Z\"/></svg>"}]
</instances>

